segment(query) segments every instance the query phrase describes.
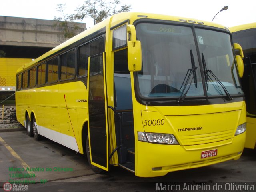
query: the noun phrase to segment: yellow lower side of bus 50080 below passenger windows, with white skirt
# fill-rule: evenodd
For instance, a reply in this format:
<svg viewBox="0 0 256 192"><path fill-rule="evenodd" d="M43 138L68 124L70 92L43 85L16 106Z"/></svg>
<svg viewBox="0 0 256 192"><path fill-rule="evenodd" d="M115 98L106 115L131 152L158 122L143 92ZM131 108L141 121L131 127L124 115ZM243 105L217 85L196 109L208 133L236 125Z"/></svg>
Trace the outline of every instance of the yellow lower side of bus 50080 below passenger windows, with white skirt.
<svg viewBox="0 0 256 192"><path fill-rule="evenodd" d="M74 144L71 148L75 150L76 145L76 150L83 154L82 127L86 122L88 105L87 102L79 100L86 100L86 91L81 81L18 91L17 120L25 126L26 111L30 116L33 112L37 124L48 130L39 134L67 147L70 146L65 144L62 138L64 135L73 137Z"/></svg>

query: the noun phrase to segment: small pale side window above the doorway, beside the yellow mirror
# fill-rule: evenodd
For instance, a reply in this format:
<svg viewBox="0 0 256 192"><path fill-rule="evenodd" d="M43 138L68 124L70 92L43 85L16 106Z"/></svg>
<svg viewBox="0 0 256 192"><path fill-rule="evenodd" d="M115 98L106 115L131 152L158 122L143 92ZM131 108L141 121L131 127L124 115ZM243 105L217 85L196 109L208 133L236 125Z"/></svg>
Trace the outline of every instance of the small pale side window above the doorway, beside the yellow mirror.
<svg viewBox="0 0 256 192"><path fill-rule="evenodd" d="M126 25L113 30L113 50L127 46Z"/></svg>

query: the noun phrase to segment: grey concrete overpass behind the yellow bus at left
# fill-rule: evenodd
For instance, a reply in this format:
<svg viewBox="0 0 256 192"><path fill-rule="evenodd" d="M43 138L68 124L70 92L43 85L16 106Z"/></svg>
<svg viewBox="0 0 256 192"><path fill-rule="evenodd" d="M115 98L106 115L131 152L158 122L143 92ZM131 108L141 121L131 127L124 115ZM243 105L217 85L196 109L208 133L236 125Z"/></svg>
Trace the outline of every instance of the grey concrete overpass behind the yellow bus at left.
<svg viewBox="0 0 256 192"><path fill-rule="evenodd" d="M86 30L85 23L75 24L79 27L75 34ZM72 23L68 26L74 29ZM57 21L0 16L0 50L5 57L37 58L66 40Z"/></svg>

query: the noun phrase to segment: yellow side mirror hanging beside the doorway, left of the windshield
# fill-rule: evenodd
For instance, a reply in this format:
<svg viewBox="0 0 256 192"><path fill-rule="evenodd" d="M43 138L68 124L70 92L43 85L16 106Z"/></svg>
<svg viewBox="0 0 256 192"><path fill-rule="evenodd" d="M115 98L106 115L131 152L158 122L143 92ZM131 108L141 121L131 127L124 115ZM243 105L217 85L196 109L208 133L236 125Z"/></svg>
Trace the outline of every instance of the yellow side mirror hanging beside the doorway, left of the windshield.
<svg viewBox="0 0 256 192"><path fill-rule="evenodd" d="M128 69L129 71L141 71L141 44L140 41L136 40L134 25L127 26L127 33L130 34L130 40L128 41Z"/></svg>

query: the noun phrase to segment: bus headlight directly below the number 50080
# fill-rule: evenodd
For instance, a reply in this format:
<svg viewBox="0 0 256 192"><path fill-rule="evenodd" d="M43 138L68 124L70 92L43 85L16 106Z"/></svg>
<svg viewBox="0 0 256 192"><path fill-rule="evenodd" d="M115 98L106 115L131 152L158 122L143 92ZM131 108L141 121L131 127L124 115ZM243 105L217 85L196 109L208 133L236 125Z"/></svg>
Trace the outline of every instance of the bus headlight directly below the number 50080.
<svg viewBox="0 0 256 192"><path fill-rule="evenodd" d="M179 144L172 134L138 132L138 140L159 144Z"/></svg>

